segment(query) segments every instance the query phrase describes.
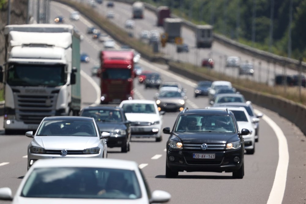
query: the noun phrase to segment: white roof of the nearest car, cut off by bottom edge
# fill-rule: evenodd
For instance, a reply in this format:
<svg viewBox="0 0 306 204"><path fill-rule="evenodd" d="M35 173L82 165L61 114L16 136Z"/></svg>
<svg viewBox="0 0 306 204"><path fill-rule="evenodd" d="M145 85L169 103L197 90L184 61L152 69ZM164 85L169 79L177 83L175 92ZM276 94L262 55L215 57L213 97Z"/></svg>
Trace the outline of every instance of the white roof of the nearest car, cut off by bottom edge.
<svg viewBox="0 0 306 204"><path fill-rule="evenodd" d="M136 170L138 164L135 161L102 158L58 158L39 159L33 164L35 168L50 167L98 167Z"/></svg>

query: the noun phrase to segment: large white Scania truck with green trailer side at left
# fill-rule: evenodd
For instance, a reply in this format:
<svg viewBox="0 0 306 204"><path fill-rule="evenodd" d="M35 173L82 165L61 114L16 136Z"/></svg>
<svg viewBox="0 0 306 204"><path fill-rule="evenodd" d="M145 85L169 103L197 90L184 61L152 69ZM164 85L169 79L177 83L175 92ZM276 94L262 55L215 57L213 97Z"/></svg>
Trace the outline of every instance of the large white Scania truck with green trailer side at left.
<svg viewBox="0 0 306 204"><path fill-rule="evenodd" d="M78 115L80 37L72 25L8 25L4 129L36 130L46 116Z"/></svg>

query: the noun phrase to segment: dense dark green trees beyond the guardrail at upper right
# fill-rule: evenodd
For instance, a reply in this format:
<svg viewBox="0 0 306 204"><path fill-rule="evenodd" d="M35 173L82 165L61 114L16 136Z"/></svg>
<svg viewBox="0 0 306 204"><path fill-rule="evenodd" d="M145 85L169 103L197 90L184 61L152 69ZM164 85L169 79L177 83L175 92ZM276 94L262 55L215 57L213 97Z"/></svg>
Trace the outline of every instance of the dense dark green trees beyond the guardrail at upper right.
<svg viewBox="0 0 306 204"><path fill-rule="evenodd" d="M144 0L170 6L172 13L196 24L214 25L215 32L241 43L269 51L272 0ZM292 58L306 57L306 0L292 0ZM272 52L288 55L290 0L274 0ZM255 42L252 42L253 8Z"/></svg>

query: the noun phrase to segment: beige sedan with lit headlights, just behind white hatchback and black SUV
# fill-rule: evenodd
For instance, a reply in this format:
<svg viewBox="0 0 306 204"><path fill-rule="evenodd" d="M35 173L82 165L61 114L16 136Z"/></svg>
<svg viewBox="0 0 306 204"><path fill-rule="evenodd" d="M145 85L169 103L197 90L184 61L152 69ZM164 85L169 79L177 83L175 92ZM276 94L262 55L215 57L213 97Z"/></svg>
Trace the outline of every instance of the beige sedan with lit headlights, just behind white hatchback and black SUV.
<svg viewBox="0 0 306 204"><path fill-rule="evenodd" d="M159 111L182 111L187 97L178 88L169 87L156 93L154 99Z"/></svg>

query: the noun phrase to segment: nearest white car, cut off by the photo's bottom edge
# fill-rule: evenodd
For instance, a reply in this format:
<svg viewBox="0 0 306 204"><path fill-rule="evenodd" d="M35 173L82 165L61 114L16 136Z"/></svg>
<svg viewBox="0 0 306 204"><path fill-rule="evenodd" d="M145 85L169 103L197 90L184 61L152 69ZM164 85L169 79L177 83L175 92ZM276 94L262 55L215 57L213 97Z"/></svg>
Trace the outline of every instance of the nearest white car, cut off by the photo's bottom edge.
<svg viewBox="0 0 306 204"><path fill-rule="evenodd" d="M0 188L0 200L13 204L161 203L171 195L148 189L134 161L69 158L39 160L22 179L12 197L10 188Z"/></svg>

